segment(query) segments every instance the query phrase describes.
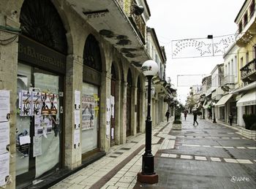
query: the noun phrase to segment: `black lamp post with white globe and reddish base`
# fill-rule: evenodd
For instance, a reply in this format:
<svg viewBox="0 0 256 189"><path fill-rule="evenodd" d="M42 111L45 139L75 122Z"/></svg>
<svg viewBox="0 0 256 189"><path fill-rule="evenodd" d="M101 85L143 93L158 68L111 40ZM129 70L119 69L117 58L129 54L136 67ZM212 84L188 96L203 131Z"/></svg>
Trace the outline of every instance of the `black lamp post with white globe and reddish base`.
<svg viewBox="0 0 256 189"><path fill-rule="evenodd" d="M151 153L151 131L152 121L150 115L151 109L151 80L158 72L158 65L155 61L148 60L143 63L143 74L148 78L148 114L146 119L146 144L145 153L142 157L142 171L138 173L139 182L154 184L158 182L158 175L154 172L154 155Z"/></svg>

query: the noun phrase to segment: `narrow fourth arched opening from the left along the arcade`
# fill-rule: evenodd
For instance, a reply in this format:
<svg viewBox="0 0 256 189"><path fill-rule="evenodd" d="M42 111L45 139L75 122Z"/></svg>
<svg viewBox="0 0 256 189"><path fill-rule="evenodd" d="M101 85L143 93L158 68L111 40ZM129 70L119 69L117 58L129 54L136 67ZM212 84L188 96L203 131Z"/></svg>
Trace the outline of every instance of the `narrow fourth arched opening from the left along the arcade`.
<svg viewBox="0 0 256 189"><path fill-rule="evenodd" d="M127 74L127 136L130 136L132 134L131 107L132 107L132 72L129 69Z"/></svg>

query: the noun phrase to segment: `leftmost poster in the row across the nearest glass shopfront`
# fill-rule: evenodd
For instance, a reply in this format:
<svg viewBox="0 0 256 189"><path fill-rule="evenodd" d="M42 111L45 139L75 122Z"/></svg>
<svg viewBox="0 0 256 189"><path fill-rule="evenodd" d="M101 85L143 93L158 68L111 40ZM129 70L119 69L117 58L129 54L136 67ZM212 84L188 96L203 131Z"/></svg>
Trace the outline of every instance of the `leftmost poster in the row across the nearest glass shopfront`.
<svg viewBox="0 0 256 189"><path fill-rule="evenodd" d="M32 115L32 94L29 90L21 90L20 116Z"/></svg>

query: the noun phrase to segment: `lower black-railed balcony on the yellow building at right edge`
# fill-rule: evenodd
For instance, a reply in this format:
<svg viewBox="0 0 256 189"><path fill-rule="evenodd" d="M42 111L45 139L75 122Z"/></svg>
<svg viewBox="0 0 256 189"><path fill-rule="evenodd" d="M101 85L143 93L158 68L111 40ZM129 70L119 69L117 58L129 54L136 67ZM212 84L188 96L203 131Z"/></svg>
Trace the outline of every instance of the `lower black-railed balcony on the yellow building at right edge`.
<svg viewBox="0 0 256 189"><path fill-rule="evenodd" d="M256 81L256 58L240 69L243 82Z"/></svg>

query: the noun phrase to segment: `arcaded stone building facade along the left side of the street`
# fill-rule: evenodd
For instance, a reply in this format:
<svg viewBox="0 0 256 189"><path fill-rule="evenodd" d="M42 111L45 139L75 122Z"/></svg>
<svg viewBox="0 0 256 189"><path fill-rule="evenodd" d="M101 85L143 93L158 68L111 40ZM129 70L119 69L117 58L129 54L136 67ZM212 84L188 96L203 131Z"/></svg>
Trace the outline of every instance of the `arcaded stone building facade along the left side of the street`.
<svg viewBox="0 0 256 189"><path fill-rule="evenodd" d="M0 7L6 188L43 186L48 175L86 166L145 131L146 0L4 0Z"/></svg>

